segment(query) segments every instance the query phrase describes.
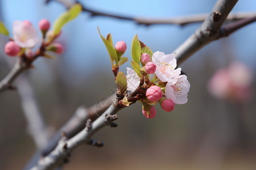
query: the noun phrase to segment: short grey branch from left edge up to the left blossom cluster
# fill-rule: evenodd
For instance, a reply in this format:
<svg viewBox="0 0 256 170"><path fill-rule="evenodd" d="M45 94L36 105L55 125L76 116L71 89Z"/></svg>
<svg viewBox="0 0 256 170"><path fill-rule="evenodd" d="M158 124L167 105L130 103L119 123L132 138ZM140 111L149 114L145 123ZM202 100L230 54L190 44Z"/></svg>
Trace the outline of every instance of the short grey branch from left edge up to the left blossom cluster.
<svg viewBox="0 0 256 170"><path fill-rule="evenodd" d="M3 91L15 89L13 86L11 86L11 83L13 83L14 79L26 69L28 69L26 63L22 62L20 57L17 57L13 69L0 82L0 94Z"/></svg>

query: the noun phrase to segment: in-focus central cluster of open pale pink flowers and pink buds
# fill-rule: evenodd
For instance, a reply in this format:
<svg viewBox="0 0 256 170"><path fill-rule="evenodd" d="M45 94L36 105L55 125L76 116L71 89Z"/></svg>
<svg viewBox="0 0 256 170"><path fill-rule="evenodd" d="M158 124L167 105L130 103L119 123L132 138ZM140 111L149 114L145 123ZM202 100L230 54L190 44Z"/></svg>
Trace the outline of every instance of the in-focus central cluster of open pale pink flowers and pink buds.
<svg viewBox="0 0 256 170"><path fill-rule="evenodd" d="M141 55L141 73L150 79L151 86L142 99L142 113L147 118L154 118L156 110L154 104L158 101L164 111L170 112L175 104L185 104L188 101L190 84L186 75L180 75L174 54L155 52L152 59L147 53ZM140 84L140 77L131 68L127 67L127 90L135 91Z"/></svg>

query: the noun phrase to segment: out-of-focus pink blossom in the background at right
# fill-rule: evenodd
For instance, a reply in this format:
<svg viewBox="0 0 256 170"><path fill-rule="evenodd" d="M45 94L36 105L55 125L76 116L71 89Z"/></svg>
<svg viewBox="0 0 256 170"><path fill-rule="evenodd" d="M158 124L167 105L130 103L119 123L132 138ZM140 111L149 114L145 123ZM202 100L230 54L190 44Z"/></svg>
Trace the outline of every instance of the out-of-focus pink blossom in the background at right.
<svg viewBox="0 0 256 170"><path fill-rule="evenodd" d="M208 83L208 91L218 99L247 101L251 98L253 73L241 62L233 62L226 69L217 70Z"/></svg>

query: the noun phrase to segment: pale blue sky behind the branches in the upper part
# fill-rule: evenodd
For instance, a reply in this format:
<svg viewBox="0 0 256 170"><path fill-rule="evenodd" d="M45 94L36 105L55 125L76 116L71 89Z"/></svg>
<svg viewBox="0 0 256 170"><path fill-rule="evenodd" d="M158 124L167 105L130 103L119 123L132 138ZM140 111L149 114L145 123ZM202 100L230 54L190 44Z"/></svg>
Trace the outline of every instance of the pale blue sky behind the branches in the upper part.
<svg viewBox="0 0 256 170"><path fill-rule="evenodd" d="M81 1L86 7L94 10L110 12L126 16L167 17L190 14L207 13L213 7L215 1L204 0L175 0L175 1ZM51 23L65 11L65 7L57 2L44 5L43 0L1 0L1 17L6 27L12 29L14 20L30 20L35 27L42 18L47 18ZM256 11L256 1L238 1L233 11ZM63 28L60 41L65 46L63 58L69 63L69 67L75 72L92 70L94 63L101 67L110 67L108 52L98 35L97 26L102 35L112 33L113 42L126 41L127 52L124 56L130 56L130 45L134 35L138 33L139 39L154 51L160 50L171 53L200 24L191 24L185 27L177 25L137 25L134 22L106 18L102 16L90 17L88 13L82 13L79 17L68 23ZM233 53L236 57L254 66L256 63L256 24L253 23L234 33L229 39L232 41ZM99 62L101 61L101 62ZM109 62L109 63L108 63ZM108 63L106 65L106 63ZM127 63L125 65L129 66Z"/></svg>

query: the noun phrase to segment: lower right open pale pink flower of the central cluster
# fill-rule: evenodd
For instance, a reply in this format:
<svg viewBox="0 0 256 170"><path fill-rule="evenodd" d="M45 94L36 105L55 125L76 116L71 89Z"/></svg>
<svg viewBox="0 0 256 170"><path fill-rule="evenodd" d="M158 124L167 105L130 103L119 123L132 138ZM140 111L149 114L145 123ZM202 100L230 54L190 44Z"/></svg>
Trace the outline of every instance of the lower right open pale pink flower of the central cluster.
<svg viewBox="0 0 256 170"><path fill-rule="evenodd" d="M166 84L165 95L167 99L171 99L176 104L185 104L188 101L190 84L185 75L178 75L176 79L177 82L168 82Z"/></svg>

